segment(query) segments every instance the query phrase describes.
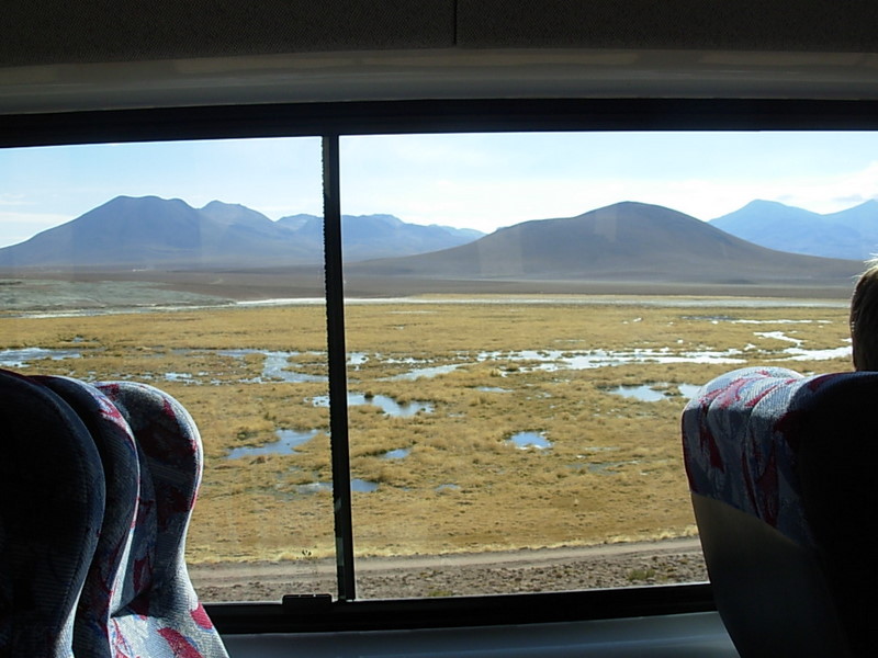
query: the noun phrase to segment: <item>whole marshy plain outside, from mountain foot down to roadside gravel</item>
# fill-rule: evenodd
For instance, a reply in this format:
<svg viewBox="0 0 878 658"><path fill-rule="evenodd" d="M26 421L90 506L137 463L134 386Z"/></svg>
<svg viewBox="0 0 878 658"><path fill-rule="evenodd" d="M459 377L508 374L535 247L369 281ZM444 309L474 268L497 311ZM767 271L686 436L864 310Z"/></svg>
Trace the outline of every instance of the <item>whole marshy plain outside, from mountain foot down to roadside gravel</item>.
<svg viewBox="0 0 878 658"><path fill-rule="evenodd" d="M204 599L331 593L324 308L243 281L3 280L0 366L144 381L187 406ZM746 365L851 370L849 292L525 288L402 286L346 309L359 595L703 580L688 397Z"/></svg>

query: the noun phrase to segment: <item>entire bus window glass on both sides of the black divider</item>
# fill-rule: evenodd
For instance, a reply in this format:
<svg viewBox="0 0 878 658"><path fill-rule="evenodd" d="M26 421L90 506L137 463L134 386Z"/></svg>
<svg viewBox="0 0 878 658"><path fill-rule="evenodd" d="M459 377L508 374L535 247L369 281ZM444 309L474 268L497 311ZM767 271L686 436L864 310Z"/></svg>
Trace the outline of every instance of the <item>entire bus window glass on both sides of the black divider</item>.
<svg viewBox="0 0 878 658"><path fill-rule="evenodd" d="M342 137L357 595L705 579L679 413L851 368L875 146ZM0 367L183 402L206 601L337 591L319 175L317 138L0 151Z"/></svg>

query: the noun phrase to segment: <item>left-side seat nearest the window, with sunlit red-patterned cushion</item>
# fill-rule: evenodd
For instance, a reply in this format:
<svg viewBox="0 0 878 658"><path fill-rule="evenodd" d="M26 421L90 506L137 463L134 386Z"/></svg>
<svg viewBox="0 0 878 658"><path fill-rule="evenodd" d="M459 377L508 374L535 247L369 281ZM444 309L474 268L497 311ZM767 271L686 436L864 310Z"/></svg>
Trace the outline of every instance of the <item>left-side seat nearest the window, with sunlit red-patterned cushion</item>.
<svg viewBox="0 0 878 658"><path fill-rule="evenodd" d="M140 455L140 508L124 575L126 611L117 633L137 655L226 657L199 603L184 561L185 533L201 484L201 436L171 396L130 382L101 383Z"/></svg>

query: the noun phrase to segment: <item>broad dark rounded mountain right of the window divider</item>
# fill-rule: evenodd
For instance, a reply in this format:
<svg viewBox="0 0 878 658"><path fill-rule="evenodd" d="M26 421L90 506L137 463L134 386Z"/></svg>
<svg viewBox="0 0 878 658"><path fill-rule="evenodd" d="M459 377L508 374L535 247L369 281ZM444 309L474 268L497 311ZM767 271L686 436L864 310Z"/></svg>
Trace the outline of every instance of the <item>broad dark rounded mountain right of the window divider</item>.
<svg viewBox="0 0 878 658"><path fill-rule="evenodd" d="M619 203L525 222L443 251L357 263L361 275L495 280L849 284L856 261L774 251L661 206Z"/></svg>

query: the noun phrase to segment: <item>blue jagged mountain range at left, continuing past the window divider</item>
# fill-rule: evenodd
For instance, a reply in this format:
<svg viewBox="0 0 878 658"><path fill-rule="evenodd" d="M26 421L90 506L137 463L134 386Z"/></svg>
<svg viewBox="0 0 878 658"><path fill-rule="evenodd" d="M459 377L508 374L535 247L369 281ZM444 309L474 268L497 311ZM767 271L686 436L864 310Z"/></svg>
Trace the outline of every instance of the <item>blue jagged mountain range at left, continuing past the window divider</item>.
<svg viewBox="0 0 878 658"><path fill-rule="evenodd" d="M431 251L472 239L465 232L406 224L391 215L342 219L342 246L349 261ZM179 198L157 196L119 196L67 224L0 249L4 268L200 269L305 264L322 259L318 217L296 215L272 222L243 205L213 201L196 209Z"/></svg>

